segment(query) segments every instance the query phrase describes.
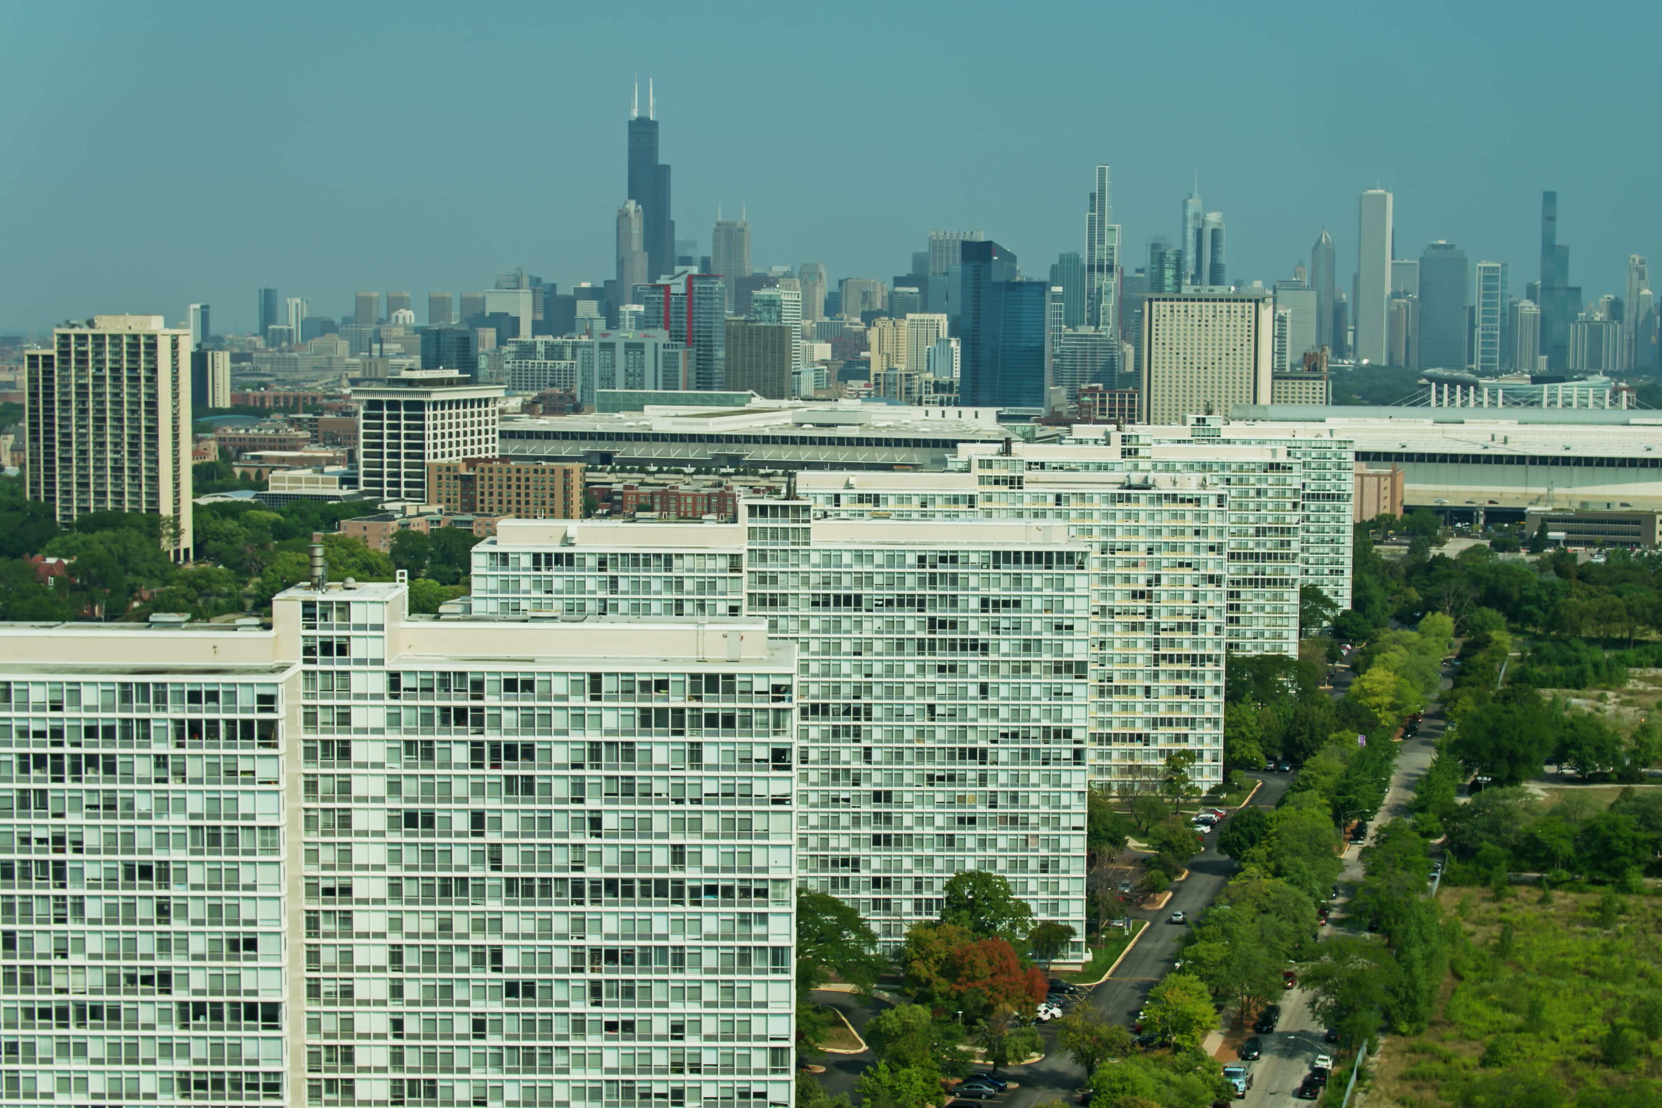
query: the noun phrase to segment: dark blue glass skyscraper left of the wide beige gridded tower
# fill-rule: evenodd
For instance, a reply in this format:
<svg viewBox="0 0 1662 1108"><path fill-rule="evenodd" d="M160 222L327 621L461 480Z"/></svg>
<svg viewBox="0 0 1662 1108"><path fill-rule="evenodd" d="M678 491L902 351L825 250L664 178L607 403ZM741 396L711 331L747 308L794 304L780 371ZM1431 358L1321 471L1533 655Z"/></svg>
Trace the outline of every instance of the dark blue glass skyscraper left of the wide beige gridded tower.
<svg viewBox="0 0 1662 1108"><path fill-rule="evenodd" d="M1044 281L1020 281L1015 254L997 243L959 241L957 332L959 404L1029 407L1045 404Z"/></svg>

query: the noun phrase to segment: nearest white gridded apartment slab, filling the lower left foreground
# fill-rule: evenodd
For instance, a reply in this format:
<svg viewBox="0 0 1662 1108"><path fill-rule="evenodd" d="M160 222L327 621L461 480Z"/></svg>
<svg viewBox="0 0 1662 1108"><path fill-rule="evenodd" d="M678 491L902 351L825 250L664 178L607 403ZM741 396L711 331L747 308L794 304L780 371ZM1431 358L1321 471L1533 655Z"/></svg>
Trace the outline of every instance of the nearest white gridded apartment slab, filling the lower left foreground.
<svg viewBox="0 0 1662 1108"><path fill-rule="evenodd" d="M0 625L12 1098L789 1105L791 645L406 611Z"/></svg>

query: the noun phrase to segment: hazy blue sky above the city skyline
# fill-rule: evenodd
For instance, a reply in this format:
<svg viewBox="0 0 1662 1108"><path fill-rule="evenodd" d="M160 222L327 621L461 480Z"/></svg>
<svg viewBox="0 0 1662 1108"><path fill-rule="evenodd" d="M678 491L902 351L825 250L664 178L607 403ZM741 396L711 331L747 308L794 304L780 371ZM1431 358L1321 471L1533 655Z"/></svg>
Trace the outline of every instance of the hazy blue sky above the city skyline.
<svg viewBox="0 0 1662 1108"><path fill-rule="evenodd" d="M0 329L254 289L470 291L612 276L630 83L653 75L680 238L748 204L753 262L889 279L931 228L1042 276L1114 166L1127 262L1195 174L1228 271L1291 276L1356 194L1398 254L1449 239L1537 276L1542 188L1571 276L1662 266L1655 5L0 3Z"/></svg>

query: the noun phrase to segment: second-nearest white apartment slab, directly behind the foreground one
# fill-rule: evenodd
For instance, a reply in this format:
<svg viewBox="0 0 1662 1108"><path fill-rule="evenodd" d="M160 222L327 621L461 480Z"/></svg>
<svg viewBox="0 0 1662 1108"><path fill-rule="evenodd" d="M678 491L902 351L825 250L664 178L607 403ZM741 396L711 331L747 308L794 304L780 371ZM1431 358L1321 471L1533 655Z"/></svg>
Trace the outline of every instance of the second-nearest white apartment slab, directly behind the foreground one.
<svg viewBox="0 0 1662 1108"><path fill-rule="evenodd" d="M801 882L851 900L886 949L939 917L962 869L1084 935L1084 545L1020 520L813 518L806 500L741 513L504 522L474 548L472 608L766 616L798 648Z"/></svg>

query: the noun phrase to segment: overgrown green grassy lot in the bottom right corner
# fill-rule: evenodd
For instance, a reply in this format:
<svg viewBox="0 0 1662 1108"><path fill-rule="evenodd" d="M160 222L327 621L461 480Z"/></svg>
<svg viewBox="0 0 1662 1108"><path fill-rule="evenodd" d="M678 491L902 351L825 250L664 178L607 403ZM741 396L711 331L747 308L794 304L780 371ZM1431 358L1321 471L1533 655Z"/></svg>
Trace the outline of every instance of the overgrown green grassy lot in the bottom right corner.
<svg viewBox="0 0 1662 1108"><path fill-rule="evenodd" d="M1662 1076L1655 897L1516 894L1441 894L1464 940L1426 1033L1386 1040L1369 1108L1512 1105L1522 1088L1546 1096L1532 1108L1604 1105Z"/></svg>

